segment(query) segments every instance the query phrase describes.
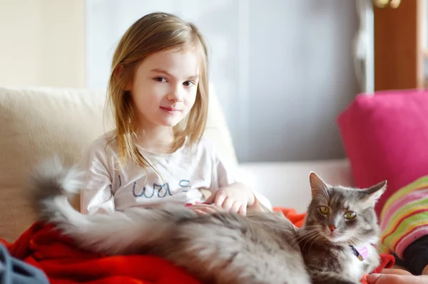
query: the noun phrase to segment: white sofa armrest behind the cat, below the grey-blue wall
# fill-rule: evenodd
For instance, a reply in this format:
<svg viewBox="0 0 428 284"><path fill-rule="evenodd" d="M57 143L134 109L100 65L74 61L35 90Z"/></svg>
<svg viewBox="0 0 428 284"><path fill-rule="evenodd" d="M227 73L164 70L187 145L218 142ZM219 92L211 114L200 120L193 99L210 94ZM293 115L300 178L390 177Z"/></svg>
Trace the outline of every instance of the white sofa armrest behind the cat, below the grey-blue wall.
<svg viewBox="0 0 428 284"><path fill-rule="evenodd" d="M268 208L281 206L305 212L311 199L310 172L317 173L327 184L353 184L347 159L243 163L238 174Z"/></svg>

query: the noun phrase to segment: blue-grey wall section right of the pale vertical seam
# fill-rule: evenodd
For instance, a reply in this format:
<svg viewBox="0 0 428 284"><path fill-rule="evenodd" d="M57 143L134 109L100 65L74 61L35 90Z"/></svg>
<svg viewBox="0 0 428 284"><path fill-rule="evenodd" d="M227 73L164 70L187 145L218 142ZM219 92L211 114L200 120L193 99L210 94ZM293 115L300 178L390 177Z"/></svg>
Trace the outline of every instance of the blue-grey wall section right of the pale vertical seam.
<svg viewBox="0 0 428 284"><path fill-rule="evenodd" d="M335 119L358 92L353 2L251 2L248 159L345 156Z"/></svg>

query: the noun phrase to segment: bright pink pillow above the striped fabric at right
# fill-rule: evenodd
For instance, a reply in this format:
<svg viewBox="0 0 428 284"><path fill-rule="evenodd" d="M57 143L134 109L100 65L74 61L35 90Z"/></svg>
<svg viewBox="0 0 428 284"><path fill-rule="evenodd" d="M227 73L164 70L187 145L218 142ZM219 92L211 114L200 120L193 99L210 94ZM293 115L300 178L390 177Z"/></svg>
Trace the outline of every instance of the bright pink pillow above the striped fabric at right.
<svg viewBox="0 0 428 284"><path fill-rule="evenodd" d="M427 90L357 95L337 122L355 185L388 181L378 215L397 189L428 174Z"/></svg>

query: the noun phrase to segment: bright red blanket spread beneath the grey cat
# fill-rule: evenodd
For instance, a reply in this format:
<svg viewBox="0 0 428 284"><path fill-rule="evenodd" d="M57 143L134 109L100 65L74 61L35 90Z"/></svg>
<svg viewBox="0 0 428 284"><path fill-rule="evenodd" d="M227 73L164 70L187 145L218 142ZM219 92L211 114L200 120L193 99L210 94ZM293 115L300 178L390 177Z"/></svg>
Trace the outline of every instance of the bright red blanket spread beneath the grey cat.
<svg viewBox="0 0 428 284"><path fill-rule="evenodd" d="M296 226L302 226L305 214L292 209L275 210L282 211ZM15 243L2 242L12 256L44 270L52 284L199 283L183 269L156 256L103 256L81 251L71 239L43 223L34 223ZM382 265L376 272L393 264L392 256L382 255Z"/></svg>

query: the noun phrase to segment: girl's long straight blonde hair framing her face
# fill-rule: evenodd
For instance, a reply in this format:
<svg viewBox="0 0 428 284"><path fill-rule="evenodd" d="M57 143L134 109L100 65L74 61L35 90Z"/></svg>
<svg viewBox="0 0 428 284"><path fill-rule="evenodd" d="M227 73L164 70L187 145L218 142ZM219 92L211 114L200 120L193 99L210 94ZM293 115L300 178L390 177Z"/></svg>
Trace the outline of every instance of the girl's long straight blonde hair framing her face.
<svg viewBox="0 0 428 284"><path fill-rule="evenodd" d="M199 142L205 130L208 114L208 51L203 36L192 23L166 13L153 13L138 19L118 43L111 65L108 83L108 105L110 105L116 124L118 154L123 165L131 160L147 169L153 167L143 157L134 141L134 107L126 85L133 80L136 67L141 61L157 51L175 49L179 51L200 51L200 74L195 104L187 117L173 127L175 152L188 137L190 146ZM116 72L121 67L121 74ZM156 169L155 169L156 170ZM157 172L157 171L156 171Z"/></svg>

